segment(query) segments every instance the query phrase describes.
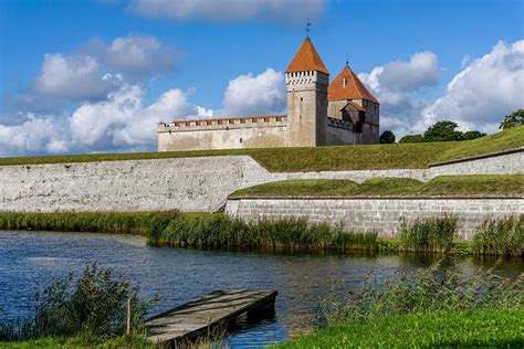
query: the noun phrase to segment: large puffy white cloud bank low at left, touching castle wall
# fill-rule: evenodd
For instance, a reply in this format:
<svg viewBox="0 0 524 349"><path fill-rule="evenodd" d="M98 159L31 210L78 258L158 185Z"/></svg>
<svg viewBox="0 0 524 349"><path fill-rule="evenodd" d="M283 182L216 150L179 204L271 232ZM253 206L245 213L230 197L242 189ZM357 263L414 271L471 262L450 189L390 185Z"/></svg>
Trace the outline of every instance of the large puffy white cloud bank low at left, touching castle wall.
<svg viewBox="0 0 524 349"><path fill-rule="evenodd" d="M125 85L106 101L84 103L71 116L30 114L23 124L0 125L0 156L155 149L158 121L199 113L178 88L147 106L144 97L139 85Z"/></svg>

